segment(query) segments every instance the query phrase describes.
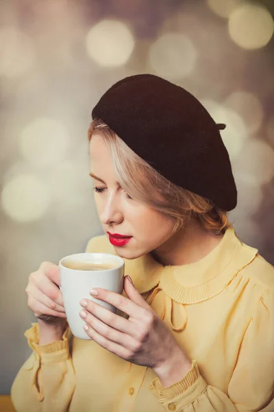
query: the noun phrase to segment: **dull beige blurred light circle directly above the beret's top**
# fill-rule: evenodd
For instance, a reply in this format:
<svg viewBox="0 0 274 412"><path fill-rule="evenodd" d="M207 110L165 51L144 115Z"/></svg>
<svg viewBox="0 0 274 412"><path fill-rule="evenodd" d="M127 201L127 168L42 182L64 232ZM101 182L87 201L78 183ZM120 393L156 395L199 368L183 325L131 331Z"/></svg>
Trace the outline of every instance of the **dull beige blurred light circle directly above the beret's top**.
<svg viewBox="0 0 274 412"><path fill-rule="evenodd" d="M149 63L159 76L182 79L195 67L197 52L190 39L184 34L166 33L152 43Z"/></svg>

